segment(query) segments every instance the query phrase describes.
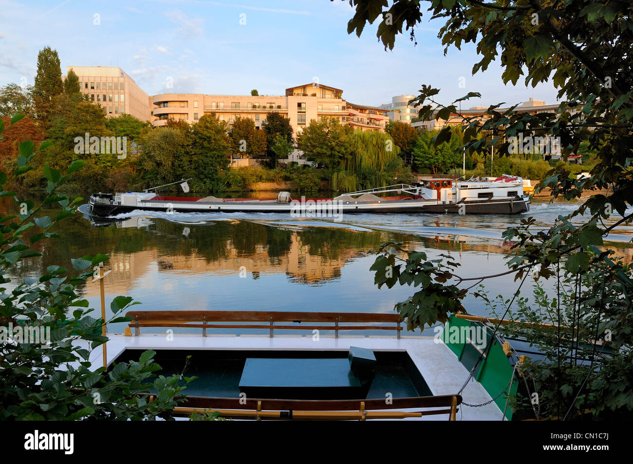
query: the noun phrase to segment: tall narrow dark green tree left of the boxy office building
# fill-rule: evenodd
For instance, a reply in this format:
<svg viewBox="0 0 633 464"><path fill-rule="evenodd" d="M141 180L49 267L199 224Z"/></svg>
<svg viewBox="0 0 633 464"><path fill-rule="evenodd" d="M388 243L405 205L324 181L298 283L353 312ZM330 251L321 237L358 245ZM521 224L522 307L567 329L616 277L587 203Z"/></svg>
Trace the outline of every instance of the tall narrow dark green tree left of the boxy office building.
<svg viewBox="0 0 633 464"><path fill-rule="evenodd" d="M51 120L53 99L64 91L61 82L60 57L56 50L44 47L37 54L37 75L33 86L35 116L45 128Z"/></svg>

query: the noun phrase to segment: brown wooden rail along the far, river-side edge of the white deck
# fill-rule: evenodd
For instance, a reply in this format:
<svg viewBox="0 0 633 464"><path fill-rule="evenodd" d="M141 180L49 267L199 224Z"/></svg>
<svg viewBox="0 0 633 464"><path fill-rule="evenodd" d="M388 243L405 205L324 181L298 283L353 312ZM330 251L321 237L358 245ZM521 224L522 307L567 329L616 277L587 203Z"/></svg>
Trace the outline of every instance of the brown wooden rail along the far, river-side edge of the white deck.
<svg viewBox="0 0 633 464"><path fill-rule="evenodd" d="M335 338L339 338L339 330L389 330L396 331L400 338L400 331L403 330L402 319L396 313L160 310L128 311L126 315L132 317L129 326L134 329L135 336L141 333L141 327L194 327L202 329L203 336L206 336L207 329L268 329L271 338L275 335L275 329L333 330ZM303 325L306 322L308 325ZM377 323L392 325L376 325Z"/></svg>

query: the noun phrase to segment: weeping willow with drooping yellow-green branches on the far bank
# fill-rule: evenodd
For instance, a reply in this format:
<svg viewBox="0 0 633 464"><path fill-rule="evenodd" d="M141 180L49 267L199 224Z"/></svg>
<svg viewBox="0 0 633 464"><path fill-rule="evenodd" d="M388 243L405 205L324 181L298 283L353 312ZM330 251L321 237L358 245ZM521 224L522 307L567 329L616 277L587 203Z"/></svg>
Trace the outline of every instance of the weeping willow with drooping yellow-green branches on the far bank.
<svg viewBox="0 0 633 464"><path fill-rule="evenodd" d="M400 149L389 135L379 131L356 130L348 138L349 156L332 176L334 190L351 192L361 188L381 187L391 181L398 167Z"/></svg>

